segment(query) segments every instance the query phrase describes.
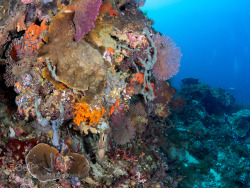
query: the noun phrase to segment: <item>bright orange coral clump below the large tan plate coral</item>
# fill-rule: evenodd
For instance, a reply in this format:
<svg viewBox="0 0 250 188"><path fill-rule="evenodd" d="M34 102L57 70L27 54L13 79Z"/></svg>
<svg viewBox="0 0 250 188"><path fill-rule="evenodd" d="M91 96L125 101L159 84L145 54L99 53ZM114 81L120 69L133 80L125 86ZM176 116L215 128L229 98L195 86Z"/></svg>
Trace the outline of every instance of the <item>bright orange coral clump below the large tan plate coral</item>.
<svg viewBox="0 0 250 188"><path fill-rule="evenodd" d="M105 109L93 110L86 103L76 103L73 107L74 123L79 125L81 122L87 122L89 125L98 123L103 116Z"/></svg>

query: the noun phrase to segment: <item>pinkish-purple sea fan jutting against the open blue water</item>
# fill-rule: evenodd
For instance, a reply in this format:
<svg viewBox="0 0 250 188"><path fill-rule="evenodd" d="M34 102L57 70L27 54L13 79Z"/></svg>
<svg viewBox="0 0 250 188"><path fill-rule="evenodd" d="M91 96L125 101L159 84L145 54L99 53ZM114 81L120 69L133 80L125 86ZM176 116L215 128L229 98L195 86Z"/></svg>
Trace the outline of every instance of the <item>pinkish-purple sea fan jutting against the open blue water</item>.
<svg viewBox="0 0 250 188"><path fill-rule="evenodd" d="M175 42L168 36L157 33L154 37L157 47L157 61L153 74L159 80L168 80L179 72L181 52Z"/></svg>

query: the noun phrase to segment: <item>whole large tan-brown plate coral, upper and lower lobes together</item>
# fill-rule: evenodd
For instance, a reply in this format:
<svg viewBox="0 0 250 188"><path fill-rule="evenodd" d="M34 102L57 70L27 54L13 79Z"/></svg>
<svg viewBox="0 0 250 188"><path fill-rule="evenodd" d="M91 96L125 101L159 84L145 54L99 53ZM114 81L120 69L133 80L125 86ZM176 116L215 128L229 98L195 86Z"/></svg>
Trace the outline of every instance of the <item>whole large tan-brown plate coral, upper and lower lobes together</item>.
<svg viewBox="0 0 250 188"><path fill-rule="evenodd" d="M86 41L73 40L74 32L73 13L54 16L39 55L48 58L56 68L58 81L70 88L96 93L104 85L106 66L98 50Z"/></svg>

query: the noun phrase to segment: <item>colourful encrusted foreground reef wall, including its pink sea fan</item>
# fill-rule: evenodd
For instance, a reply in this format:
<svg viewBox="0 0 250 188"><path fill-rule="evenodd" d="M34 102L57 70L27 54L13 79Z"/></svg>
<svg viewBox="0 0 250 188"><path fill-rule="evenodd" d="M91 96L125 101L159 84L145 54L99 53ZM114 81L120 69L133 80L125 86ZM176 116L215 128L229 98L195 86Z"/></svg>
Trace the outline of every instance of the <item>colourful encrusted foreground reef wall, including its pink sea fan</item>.
<svg viewBox="0 0 250 188"><path fill-rule="evenodd" d="M0 2L0 187L175 187L146 138L181 53L145 0Z"/></svg>

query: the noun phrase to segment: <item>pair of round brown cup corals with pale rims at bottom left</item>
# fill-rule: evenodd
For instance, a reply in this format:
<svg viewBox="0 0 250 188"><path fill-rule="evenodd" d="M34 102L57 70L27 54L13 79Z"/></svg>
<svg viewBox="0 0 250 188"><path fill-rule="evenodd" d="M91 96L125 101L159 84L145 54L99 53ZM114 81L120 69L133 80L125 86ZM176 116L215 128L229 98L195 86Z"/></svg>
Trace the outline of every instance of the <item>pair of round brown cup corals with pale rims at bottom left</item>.
<svg viewBox="0 0 250 188"><path fill-rule="evenodd" d="M57 149L44 143L38 144L29 152L26 163L30 174L39 181L58 179L60 173L82 179L89 173L85 156L77 153L62 155Z"/></svg>

